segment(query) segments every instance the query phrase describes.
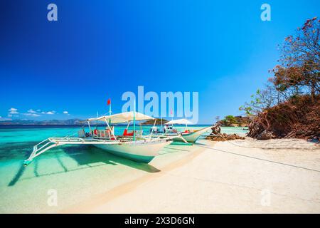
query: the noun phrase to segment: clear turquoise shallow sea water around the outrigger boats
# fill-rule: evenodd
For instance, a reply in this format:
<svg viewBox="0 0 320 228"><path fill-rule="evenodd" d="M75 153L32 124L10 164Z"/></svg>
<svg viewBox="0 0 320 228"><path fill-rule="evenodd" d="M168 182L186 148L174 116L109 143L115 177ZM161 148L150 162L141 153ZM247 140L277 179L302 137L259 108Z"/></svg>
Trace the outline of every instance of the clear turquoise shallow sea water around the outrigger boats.
<svg viewBox="0 0 320 228"><path fill-rule="evenodd" d="M192 128L204 128L196 125ZM122 134L125 126L117 126ZM138 127L139 129L140 127ZM150 126L143 126L144 134ZM111 155L90 145L54 147L23 167L33 145L49 137L77 133L80 127L0 126L0 212L59 212L132 180L144 172L159 172L159 162L178 159L192 146L169 145L149 165ZM182 130L182 129L181 129ZM242 128L223 128L224 133L244 134ZM48 190L57 190L58 205L48 206Z"/></svg>

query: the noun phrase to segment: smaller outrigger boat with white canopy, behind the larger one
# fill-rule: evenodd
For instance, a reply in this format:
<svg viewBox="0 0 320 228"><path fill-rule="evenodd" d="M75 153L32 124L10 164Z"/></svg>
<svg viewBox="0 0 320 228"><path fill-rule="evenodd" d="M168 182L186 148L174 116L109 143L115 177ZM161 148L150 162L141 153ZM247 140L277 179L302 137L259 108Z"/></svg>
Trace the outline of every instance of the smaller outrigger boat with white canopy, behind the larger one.
<svg viewBox="0 0 320 228"><path fill-rule="evenodd" d="M174 124L175 125L186 125L186 129L183 132L178 132L178 130L176 130L176 128L174 128ZM173 136L178 136L181 135L181 137L176 137L173 140L174 141L187 141L187 142L191 142L194 143L196 142L196 140L198 140L198 138L200 138L201 135L203 135L204 133L206 133L208 130L211 129L211 127L206 127L206 128L201 128L199 130L189 130L188 129L188 125L191 125L193 123L191 123L189 120L186 119L179 119L179 120L171 120L167 123L165 123L164 127L160 130L158 130L158 128L154 125L151 128L151 133L155 133L155 135L162 135L162 137L173 137Z"/></svg>

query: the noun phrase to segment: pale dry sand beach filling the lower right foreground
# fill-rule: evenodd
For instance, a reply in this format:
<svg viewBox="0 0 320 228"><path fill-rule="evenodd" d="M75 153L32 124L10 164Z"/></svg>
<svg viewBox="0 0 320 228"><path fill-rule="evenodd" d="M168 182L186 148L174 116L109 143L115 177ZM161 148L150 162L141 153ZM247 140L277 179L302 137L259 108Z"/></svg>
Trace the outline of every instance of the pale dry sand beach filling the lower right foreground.
<svg viewBox="0 0 320 228"><path fill-rule="evenodd" d="M304 140L201 141L173 162L60 212L320 213L320 149Z"/></svg>

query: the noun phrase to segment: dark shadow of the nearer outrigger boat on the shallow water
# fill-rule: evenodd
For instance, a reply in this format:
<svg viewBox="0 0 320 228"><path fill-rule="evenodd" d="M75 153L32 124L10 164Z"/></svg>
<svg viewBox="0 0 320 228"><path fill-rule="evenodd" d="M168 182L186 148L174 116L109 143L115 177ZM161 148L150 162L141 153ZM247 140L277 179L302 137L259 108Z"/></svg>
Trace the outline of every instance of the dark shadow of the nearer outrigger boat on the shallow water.
<svg viewBox="0 0 320 228"><path fill-rule="evenodd" d="M104 165L125 165L127 167L132 167L134 169L142 170L144 172L161 171L152 165L134 162L133 160L112 155L105 150L100 150L99 148L93 147L91 145L82 145L80 147L61 146L57 149L58 150L53 150L52 152L50 152L50 157L46 157L45 159L55 160L57 162L57 167L60 167L59 171L46 172L44 174L40 174L38 172L38 166L39 163L41 163L41 159L39 159L40 157L33 160L31 165L28 165L28 167L23 167L23 161L21 161L21 167L18 169L18 172L16 172L16 175L14 175L12 180L9 182L8 186L16 185L16 182L18 182L21 179L26 169L30 168L33 169L34 176L23 178L23 180L32 179L35 177L58 175L65 172L90 169L95 167L101 167ZM63 153L61 153L61 150L63 150ZM74 165L72 165L73 167L70 167L70 165L67 165L65 162L63 162L63 157L65 156L71 157L73 160L75 160L78 163L78 167L74 167Z"/></svg>

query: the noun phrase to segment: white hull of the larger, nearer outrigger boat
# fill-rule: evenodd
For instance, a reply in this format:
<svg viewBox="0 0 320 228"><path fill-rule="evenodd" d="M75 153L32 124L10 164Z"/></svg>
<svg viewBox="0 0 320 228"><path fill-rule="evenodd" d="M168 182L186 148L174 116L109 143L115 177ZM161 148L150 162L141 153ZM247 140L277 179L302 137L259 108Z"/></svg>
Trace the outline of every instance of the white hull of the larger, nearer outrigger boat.
<svg viewBox="0 0 320 228"><path fill-rule="evenodd" d="M149 163L158 155L158 152L169 145L170 142L166 140L151 142L124 142L119 144L98 144L94 145L102 150L117 155L119 157L125 157L135 162Z"/></svg>

